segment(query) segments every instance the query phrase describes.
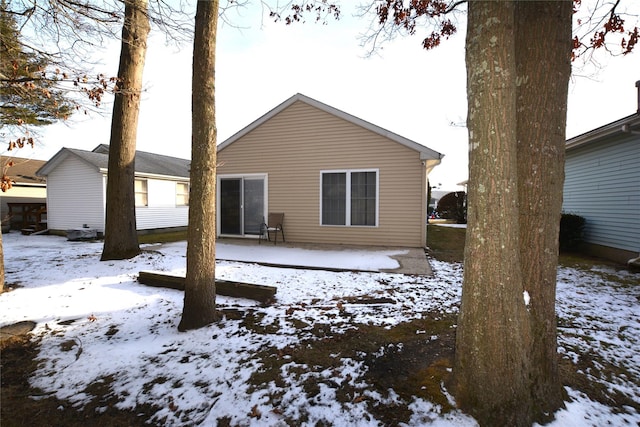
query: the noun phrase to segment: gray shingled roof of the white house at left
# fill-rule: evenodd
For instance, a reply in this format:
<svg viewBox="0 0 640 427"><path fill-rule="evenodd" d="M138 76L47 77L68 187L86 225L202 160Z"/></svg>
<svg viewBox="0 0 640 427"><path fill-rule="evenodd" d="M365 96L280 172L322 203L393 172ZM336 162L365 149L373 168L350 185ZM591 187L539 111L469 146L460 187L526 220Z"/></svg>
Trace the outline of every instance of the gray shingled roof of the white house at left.
<svg viewBox="0 0 640 427"><path fill-rule="evenodd" d="M105 144L98 145L92 151L62 148L44 166L38 169L36 173L39 176L48 175L60 162L69 156L75 156L95 167L97 171L106 173L109 165L108 153L109 146ZM136 151L135 165L136 175L188 179L191 160L147 153L145 151Z"/></svg>

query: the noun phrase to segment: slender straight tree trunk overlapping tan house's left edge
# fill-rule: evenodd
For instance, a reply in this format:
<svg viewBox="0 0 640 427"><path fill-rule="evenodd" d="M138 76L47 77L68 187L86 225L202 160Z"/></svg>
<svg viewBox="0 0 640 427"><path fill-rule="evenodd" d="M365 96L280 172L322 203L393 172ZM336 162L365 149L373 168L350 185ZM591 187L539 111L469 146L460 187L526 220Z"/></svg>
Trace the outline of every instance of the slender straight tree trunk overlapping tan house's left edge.
<svg viewBox="0 0 640 427"><path fill-rule="evenodd" d="M198 1L193 41L191 190L184 308L178 330L216 320L215 61L218 0Z"/></svg>

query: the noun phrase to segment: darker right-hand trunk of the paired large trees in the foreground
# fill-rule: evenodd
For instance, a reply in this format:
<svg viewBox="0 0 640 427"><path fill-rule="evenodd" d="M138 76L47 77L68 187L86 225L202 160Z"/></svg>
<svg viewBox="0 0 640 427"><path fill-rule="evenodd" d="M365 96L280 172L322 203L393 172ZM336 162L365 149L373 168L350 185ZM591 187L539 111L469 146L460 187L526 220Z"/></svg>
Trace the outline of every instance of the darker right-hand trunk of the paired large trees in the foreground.
<svg viewBox="0 0 640 427"><path fill-rule="evenodd" d="M531 393L540 422L563 406L555 299L571 19L571 1L516 3L520 261L531 298Z"/></svg>

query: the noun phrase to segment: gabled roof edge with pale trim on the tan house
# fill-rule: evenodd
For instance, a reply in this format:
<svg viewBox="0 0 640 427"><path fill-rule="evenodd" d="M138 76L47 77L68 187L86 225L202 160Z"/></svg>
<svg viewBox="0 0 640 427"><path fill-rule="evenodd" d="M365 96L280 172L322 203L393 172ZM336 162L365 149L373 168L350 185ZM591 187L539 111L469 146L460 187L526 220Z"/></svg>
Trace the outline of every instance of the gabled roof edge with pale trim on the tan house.
<svg viewBox="0 0 640 427"><path fill-rule="evenodd" d="M373 123L369 123L356 116L352 116L351 114L345 113L344 111L338 110L337 108L331 107L330 105L323 104L322 102L316 101L315 99L309 98L308 96L302 95L301 93L297 93L293 95L291 98L287 99L286 101L284 101L283 103L281 103L280 105L278 105L277 107L269 111L268 113L264 114L262 117L258 118L248 126L244 127L243 129L241 129L240 131L232 135L230 138L227 138L225 141L223 141L221 144L218 145L218 151L223 150L225 147L229 146L230 144L233 144L235 141L242 138L244 135L248 134L258 126L262 125L263 123L267 122L269 119L271 119L275 115L289 108L295 102L304 102L305 104L308 104L321 111L324 111L325 113L332 114L336 117L339 117L357 126L365 128L371 132L377 133L378 135L384 136L385 138L388 138L394 142L397 142L398 144L402 144L405 147L409 147L420 153L420 160L438 160L439 161L444 157L444 154L438 153L437 151L432 150L428 147L425 147L422 144L418 144L415 141L412 141L396 133L393 133L384 128L381 128L380 126L376 126Z"/></svg>

